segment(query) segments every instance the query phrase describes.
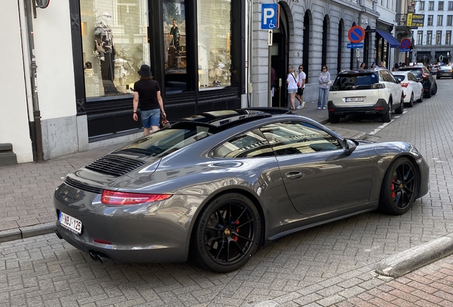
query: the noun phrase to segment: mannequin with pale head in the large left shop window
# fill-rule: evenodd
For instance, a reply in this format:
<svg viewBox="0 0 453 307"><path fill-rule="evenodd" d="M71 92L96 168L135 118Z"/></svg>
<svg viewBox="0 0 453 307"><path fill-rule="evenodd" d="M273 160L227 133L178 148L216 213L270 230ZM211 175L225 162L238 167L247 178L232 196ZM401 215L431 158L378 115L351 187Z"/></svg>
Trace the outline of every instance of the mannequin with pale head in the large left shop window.
<svg viewBox="0 0 453 307"><path fill-rule="evenodd" d="M105 95L118 93L113 84L115 78L115 45L113 45L112 29L108 26L111 18L112 16L108 12L104 12L95 28L95 51L100 60L100 72Z"/></svg>

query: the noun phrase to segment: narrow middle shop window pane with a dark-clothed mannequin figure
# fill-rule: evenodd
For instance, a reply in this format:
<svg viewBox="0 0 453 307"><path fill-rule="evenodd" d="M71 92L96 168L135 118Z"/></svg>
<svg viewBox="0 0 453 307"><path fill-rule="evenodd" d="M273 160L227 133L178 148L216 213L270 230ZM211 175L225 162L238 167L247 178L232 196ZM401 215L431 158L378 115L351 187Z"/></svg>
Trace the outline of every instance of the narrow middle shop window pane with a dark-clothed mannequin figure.
<svg viewBox="0 0 453 307"><path fill-rule="evenodd" d="M165 93L187 90L186 12L184 0L163 0Z"/></svg>

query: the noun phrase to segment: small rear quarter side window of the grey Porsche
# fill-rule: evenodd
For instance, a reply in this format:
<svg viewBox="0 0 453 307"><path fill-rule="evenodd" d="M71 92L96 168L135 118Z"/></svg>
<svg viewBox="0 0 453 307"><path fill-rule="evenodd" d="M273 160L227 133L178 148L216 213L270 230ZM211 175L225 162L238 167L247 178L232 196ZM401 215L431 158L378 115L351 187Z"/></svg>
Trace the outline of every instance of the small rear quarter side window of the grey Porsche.
<svg viewBox="0 0 453 307"><path fill-rule="evenodd" d="M215 158L256 158L275 155L261 131L254 129L217 146L212 151L212 156Z"/></svg>

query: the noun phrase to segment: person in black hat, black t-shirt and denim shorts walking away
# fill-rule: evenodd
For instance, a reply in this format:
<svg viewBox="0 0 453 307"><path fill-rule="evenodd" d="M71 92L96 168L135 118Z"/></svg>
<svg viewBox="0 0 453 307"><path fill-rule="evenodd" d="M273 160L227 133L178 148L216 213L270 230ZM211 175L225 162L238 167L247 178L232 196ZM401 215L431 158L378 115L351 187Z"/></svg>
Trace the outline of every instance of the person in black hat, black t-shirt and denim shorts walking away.
<svg viewBox="0 0 453 307"><path fill-rule="evenodd" d="M150 134L150 130L159 129L160 114L165 118L167 114L164 111L164 102L160 95L160 87L157 81L152 80L150 66L142 65L138 71L140 80L134 83L134 99L132 106L134 113L132 118L138 121L137 109L140 102L140 115L142 117L143 135Z"/></svg>

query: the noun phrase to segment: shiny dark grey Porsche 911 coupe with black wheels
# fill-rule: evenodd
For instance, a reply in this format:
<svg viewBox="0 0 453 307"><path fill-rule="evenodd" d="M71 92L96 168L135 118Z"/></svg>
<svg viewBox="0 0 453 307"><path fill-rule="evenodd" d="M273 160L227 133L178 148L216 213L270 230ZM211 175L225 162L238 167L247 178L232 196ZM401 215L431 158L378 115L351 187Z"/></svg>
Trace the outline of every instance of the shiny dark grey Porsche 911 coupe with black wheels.
<svg viewBox="0 0 453 307"><path fill-rule="evenodd" d="M274 113L274 114L272 114ZM206 112L68 174L56 234L95 260L244 266L266 240L428 191L411 144L344 139L275 109Z"/></svg>

